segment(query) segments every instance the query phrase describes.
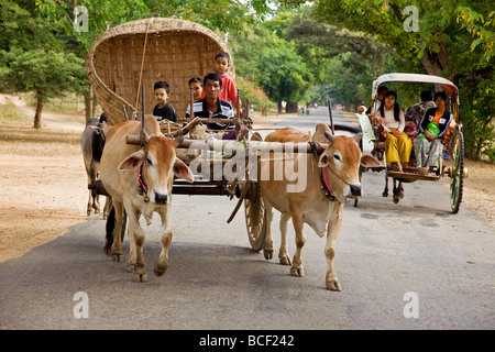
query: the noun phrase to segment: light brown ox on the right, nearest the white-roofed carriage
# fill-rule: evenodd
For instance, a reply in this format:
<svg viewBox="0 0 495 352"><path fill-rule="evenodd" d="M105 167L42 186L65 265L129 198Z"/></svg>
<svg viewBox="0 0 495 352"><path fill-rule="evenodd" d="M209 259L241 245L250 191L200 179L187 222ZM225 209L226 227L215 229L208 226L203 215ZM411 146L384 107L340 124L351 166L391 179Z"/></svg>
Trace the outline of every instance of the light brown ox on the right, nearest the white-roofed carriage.
<svg viewBox="0 0 495 352"><path fill-rule="evenodd" d="M287 252L287 226L290 218L296 232L296 253L293 258L290 275L304 276L301 250L306 239L302 233L304 223L308 223L315 232L323 237L327 234L324 254L327 256L328 270L326 275L327 288L341 290L340 282L333 268L333 257L336 255L336 241L342 223L343 205L349 197L361 196L361 180L359 174L360 163L365 167L380 165L380 162L366 154L361 154L356 141L362 138L359 133L352 136L332 135L326 124L318 124L312 141L318 143L329 143L324 152L316 157L311 154L295 154L294 161L284 161L293 164L294 170L298 170L298 177L306 178L306 188L300 193L287 191L287 186L294 184L283 177L282 180L274 180L272 177L276 167L284 167L280 158L274 157L267 163L261 163L261 175L271 174L268 180L260 182L261 195L266 208L266 238L264 243L264 255L267 260L273 256L273 241L271 234L271 222L273 208L280 211L280 249L278 257L282 264L290 265ZM308 142L309 136L298 130L286 128L268 134L266 142ZM305 166L306 157L306 170ZM270 167L270 170L267 169ZM285 169L287 167L285 166ZM301 170L302 169L302 170ZM327 196L329 190L324 186L322 177L331 189L334 198Z"/></svg>

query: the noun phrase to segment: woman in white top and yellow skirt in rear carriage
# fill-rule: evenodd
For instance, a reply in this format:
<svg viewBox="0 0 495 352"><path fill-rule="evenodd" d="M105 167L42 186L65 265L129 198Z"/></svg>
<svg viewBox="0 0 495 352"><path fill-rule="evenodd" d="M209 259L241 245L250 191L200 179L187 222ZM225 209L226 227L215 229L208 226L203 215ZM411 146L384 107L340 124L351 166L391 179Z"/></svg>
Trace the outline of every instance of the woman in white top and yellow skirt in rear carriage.
<svg viewBox="0 0 495 352"><path fill-rule="evenodd" d="M395 91L389 90L386 92L378 109L378 116L383 119L382 128L385 133L385 157L387 164L389 163L393 169L402 173L404 167L407 167L409 164L413 142L404 133L406 120L403 110L397 103L397 94Z"/></svg>

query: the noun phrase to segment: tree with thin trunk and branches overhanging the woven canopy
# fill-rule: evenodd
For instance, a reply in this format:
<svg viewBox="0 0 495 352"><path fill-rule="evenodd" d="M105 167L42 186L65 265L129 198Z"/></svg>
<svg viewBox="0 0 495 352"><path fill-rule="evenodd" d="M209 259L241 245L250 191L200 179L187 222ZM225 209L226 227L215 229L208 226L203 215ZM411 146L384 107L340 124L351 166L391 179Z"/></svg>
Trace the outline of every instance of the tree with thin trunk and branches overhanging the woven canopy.
<svg viewBox="0 0 495 352"><path fill-rule="evenodd" d="M53 32L65 43L65 51L86 61L92 42L108 26L151 16L177 16L200 23L211 30L240 31L244 25L261 21L271 10L265 1L229 0L32 0L36 15L47 25L56 24ZM88 30L75 31L74 10L81 6L88 10ZM249 14L249 15L246 15ZM92 116L95 101L87 78L84 92L86 118Z"/></svg>

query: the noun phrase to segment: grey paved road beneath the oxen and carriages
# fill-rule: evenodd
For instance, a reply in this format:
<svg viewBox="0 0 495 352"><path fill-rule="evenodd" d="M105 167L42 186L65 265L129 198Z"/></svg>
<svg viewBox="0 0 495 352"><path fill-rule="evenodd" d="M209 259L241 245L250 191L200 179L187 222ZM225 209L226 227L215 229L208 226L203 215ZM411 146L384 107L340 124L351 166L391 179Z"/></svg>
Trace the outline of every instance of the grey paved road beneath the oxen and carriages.
<svg viewBox="0 0 495 352"><path fill-rule="evenodd" d="M337 112L334 119L345 121ZM279 125L327 121L319 108ZM359 206L345 206L336 256L340 293L324 289L324 240L309 227L306 276L292 277L288 266L250 249L242 211L227 224L235 200L175 196L165 276L152 274L157 217L146 229L145 283L105 256L105 221L94 217L0 264L0 328L494 329L495 229L466 208L451 215L446 182L407 184L397 205L381 196L383 185L383 173L365 173ZM276 215L275 245L277 223Z"/></svg>

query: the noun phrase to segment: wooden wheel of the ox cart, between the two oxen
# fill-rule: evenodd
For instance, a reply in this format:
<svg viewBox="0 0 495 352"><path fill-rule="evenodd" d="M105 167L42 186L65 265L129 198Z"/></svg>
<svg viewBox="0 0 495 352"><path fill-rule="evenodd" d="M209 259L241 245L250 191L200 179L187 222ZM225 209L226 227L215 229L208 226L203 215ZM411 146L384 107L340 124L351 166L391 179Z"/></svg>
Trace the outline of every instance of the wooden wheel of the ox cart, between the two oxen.
<svg viewBox="0 0 495 352"><path fill-rule="evenodd" d="M251 248L258 252L263 248L266 235L265 206L261 197L260 183L250 182L249 187L244 198L245 227Z"/></svg>

